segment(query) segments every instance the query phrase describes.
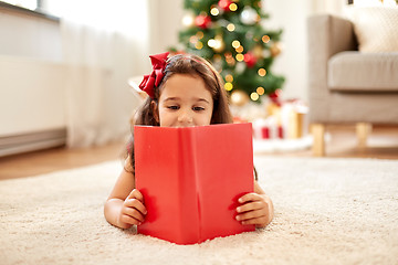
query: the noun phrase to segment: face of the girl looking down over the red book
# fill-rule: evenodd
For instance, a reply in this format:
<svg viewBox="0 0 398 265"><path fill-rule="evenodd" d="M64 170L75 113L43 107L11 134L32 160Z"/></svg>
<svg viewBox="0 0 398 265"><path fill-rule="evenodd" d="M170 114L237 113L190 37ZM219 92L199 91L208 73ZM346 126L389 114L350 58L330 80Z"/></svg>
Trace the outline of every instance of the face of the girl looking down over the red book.
<svg viewBox="0 0 398 265"><path fill-rule="evenodd" d="M210 125L213 100L197 76L175 74L164 85L158 105L160 127Z"/></svg>

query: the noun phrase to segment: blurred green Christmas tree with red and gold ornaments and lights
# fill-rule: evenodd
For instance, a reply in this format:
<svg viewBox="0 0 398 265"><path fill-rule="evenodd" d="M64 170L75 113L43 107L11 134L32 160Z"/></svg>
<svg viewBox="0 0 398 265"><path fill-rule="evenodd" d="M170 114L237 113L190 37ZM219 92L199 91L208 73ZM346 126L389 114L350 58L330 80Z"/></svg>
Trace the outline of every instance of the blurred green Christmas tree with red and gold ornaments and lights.
<svg viewBox="0 0 398 265"><path fill-rule="evenodd" d="M244 94L253 102L262 95L275 97L284 77L271 65L281 52L282 30L266 30L269 18L261 0L185 0L185 29L179 32L179 49L209 60L226 82L226 89Z"/></svg>

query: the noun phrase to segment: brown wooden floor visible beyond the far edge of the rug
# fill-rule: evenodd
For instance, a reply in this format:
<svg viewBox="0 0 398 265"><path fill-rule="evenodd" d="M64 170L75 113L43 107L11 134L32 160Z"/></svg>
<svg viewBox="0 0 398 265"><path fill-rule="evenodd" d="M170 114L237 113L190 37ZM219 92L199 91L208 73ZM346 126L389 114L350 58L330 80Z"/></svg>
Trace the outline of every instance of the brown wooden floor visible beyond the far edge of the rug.
<svg viewBox="0 0 398 265"><path fill-rule="evenodd" d="M331 139L326 144L326 157L378 158L398 160L398 127L374 127L367 147L356 146L354 126L329 126ZM56 170L84 167L108 160L122 161L125 142L113 142L88 149L59 147L42 151L0 158L0 180L23 178ZM312 157L311 149L270 153L272 156Z"/></svg>

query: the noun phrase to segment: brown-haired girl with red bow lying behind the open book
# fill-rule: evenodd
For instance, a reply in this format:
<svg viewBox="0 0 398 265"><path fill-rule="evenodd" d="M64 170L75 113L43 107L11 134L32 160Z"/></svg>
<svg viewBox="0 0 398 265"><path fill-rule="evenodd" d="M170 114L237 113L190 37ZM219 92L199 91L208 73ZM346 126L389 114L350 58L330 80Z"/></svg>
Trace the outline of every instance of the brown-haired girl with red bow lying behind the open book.
<svg viewBox="0 0 398 265"><path fill-rule="evenodd" d="M168 53L150 56L153 73L139 88L148 98L138 110L136 125L161 127L205 126L232 123L223 82L206 60ZM140 225L147 214L145 198L135 189L134 147L129 144L125 167L105 202L105 219L121 229ZM265 227L273 218L271 199L254 180L254 192L239 199L237 222Z"/></svg>

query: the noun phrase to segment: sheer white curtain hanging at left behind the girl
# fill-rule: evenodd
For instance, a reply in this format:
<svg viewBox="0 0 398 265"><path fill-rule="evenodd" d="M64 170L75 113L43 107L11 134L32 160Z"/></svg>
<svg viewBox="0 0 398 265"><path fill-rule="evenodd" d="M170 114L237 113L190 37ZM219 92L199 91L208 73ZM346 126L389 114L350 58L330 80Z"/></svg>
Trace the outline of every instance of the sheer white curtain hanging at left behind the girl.
<svg viewBox="0 0 398 265"><path fill-rule="evenodd" d="M124 139L138 104L128 78L144 73L146 0L54 1L66 63L67 146Z"/></svg>

